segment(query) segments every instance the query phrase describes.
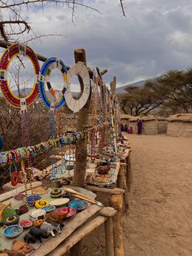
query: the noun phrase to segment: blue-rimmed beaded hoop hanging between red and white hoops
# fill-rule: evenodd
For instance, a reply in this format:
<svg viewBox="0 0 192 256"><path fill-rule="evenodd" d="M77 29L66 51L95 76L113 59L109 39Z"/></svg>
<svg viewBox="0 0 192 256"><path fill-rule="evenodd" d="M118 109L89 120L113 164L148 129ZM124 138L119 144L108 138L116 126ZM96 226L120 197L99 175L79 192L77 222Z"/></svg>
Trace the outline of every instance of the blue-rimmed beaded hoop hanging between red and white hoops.
<svg viewBox="0 0 192 256"><path fill-rule="evenodd" d="M46 105L46 108L50 108L51 106L51 100L49 99L48 95L46 94L46 86L48 90L50 91L50 94L54 96L55 98L55 109L60 108L65 103L65 98L63 96L65 92L65 88L63 86L63 89L59 91L59 93L56 93L56 91L53 89L53 87L50 84L50 73L54 68L58 68L60 72L63 75L63 81L66 82L67 80L67 68L65 67L65 64L63 64L62 60L59 60L55 57L52 57L42 65L41 67L41 75L39 76L39 92L41 99L43 103ZM46 86L45 86L46 85Z"/></svg>

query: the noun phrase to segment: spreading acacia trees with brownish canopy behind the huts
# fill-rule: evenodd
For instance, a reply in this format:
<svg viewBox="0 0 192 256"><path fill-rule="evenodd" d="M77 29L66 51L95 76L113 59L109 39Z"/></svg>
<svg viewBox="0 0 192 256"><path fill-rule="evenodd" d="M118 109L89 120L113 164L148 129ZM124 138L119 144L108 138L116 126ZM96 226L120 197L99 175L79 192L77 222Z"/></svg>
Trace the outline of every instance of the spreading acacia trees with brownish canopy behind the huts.
<svg viewBox="0 0 192 256"><path fill-rule="evenodd" d="M192 112L192 68L172 70L145 85L128 86L120 95L124 113L133 116L147 114L156 109L161 115Z"/></svg>

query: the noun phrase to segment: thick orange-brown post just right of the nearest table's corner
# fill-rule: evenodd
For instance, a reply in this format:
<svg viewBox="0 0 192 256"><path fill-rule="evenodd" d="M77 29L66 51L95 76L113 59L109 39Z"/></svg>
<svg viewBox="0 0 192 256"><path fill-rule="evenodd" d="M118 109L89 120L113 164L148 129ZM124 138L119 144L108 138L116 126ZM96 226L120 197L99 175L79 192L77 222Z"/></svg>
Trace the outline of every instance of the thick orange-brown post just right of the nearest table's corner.
<svg viewBox="0 0 192 256"><path fill-rule="evenodd" d="M122 227L123 198L122 194L112 195L109 199L111 207L117 210L113 217L113 236L115 256L124 256L124 236Z"/></svg>

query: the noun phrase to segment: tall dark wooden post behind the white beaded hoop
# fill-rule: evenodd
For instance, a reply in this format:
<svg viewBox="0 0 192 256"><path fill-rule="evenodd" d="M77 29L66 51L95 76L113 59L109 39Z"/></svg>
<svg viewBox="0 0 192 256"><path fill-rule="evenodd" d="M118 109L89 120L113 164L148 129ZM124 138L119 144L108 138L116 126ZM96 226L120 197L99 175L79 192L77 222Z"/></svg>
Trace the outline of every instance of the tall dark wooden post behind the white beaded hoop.
<svg viewBox="0 0 192 256"><path fill-rule="evenodd" d="M83 62L86 65L86 57L84 49L76 49L74 51L75 62L78 61ZM79 82L81 85L81 91L83 91L83 82L81 77L79 76ZM88 126L89 121L89 106L90 106L90 96L85 104L84 108L81 108L76 130L85 130L85 126ZM81 143L76 144L76 166L75 166L75 174L73 177L72 185L76 187L84 187L85 181L85 170L86 170L86 161L87 161L87 139L85 138Z"/></svg>

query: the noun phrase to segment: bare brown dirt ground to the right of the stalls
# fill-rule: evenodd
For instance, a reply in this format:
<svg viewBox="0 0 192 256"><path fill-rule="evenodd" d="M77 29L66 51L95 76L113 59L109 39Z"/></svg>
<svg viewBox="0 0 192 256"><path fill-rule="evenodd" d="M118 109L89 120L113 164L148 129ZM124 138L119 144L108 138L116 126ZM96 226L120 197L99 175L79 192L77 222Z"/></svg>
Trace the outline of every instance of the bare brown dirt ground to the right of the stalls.
<svg viewBox="0 0 192 256"><path fill-rule="evenodd" d="M129 135L133 195L126 256L192 255L192 138Z"/></svg>

